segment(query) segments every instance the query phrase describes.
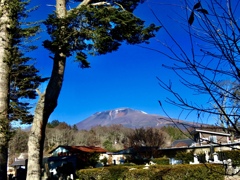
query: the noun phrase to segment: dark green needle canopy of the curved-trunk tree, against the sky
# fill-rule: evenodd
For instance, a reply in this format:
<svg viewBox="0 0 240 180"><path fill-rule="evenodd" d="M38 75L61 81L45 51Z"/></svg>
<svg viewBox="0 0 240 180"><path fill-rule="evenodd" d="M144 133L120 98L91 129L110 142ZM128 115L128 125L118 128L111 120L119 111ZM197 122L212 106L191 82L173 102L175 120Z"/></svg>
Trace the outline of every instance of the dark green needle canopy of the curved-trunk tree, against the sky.
<svg viewBox="0 0 240 180"><path fill-rule="evenodd" d="M124 1L130 9L138 1ZM102 55L116 51L122 42L128 44L148 43L154 32L159 30L154 24L144 27L144 21L131 11L115 6L81 6L71 10L67 17L49 15L45 21L51 40L43 45L53 54L61 49L68 57L76 55L82 68L90 67L87 53ZM63 28L64 27L64 28Z"/></svg>

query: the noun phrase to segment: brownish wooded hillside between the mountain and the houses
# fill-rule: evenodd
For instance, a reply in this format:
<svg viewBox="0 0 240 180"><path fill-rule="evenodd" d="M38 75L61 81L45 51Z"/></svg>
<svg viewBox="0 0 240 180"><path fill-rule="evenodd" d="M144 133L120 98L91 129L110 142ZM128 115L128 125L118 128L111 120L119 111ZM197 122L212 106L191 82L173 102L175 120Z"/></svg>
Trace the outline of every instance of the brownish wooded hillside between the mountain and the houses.
<svg viewBox="0 0 240 180"><path fill-rule="evenodd" d="M27 152L28 134L29 131L26 130L15 130L10 141L11 161L20 153ZM136 136L139 139L136 139ZM157 138L150 142L153 139L152 136ZM54 120L47 125L44 154L45 156L49 155L48 151L58 145L100 146L108 151L117 151L132 146L140 139L144 139L146 145L155 146L160 143L161 147L165 147L172 141L182 138L186 138L186 136L172 126L131 129L122 125L111 125L96 126L90 130L78 130L76 125L70 126L65 122Z"/></svg>

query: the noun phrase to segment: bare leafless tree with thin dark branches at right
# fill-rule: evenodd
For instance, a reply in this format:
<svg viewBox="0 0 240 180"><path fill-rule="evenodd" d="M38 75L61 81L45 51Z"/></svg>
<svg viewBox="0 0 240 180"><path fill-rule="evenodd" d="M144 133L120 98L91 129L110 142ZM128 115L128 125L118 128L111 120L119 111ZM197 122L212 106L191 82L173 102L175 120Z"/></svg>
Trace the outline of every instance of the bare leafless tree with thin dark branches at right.
<svg viewBox="0 0 240 180"><path fill-rule="evenodd" d="M161 48L152 50L171 60L171 64L163 66L175 73L181 89L192 92L192 96L186 95L186 91L180 91L172 81L158 77L160 86L172 95L165 102L179 107L186 117L196 113L198 122L209 118L225 132L238 134L240 2L202 0L191 3L185 0L179 6L185 12L179 14L181 27L188 36L184 42L178 41L179 37L172 34L152 10L170 39L167 43L159 40ZM164 109L163 101L160 106Z"/></svg>

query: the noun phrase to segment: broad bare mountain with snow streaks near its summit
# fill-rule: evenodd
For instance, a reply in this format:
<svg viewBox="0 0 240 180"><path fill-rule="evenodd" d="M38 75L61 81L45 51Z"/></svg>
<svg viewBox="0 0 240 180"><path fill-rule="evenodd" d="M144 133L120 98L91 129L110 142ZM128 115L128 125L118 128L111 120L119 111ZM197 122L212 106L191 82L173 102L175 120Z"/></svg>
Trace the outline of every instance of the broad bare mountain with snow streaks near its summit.
<svg viewBox="0 0 240 180"><path fill-rule="evenodd" d="M141 127L163 127L168 125L189 125L193 126L192 122L169 119L160 115L147 114L143 111L134 110L130 108L118 108L103 112L97 112L85 120L77 123L79 130L89 130L94 126L110 126L113 124L122 124L128 128L141 128ZM199 125L198 125L199 126Z"/></svg>

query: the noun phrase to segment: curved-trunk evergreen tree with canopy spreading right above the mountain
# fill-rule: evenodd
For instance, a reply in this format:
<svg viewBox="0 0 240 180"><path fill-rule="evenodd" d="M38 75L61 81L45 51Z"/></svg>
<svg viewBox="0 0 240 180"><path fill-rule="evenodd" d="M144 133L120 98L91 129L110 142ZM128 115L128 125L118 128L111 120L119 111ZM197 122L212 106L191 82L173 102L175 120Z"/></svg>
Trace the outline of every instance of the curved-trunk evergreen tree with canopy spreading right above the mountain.
<svg viewBox="0 0 240 180"><path fill-rule="evenodd" d="M76 7L71 10L67 10L67 2L57 0L56 13L45 22L51 39L44 41L44 47L52 53L53 69L35 109L28 141L28 180L41 178L45 128L57 106L67 58L75 56L82 68L88 68L87 53L107 54L123 42L148 43L159 29L154 24L145 27L144 21L133 15L142 0L75 0Z"/></svg>

